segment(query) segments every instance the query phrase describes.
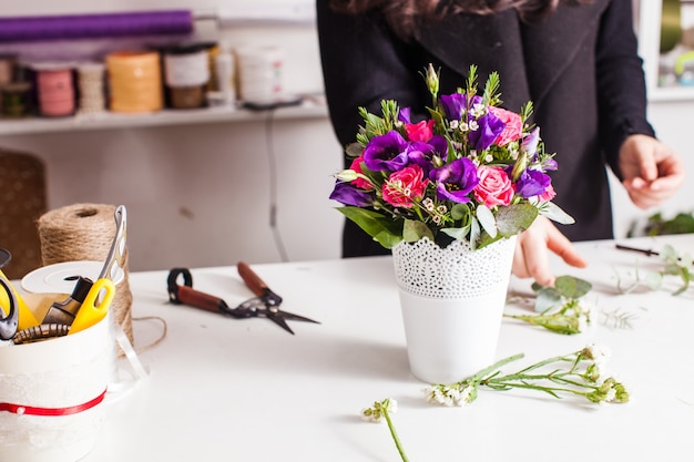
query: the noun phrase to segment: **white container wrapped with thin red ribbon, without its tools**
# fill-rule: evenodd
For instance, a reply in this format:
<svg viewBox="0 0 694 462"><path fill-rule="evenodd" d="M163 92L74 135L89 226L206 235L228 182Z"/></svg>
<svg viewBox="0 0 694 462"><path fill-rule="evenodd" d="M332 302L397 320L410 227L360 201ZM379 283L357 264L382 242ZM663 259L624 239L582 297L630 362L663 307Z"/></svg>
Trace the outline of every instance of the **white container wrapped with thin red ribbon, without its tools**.
<svg viewBox="0 0 694 462"><path fill-rule="evenodd" d="M72 335L0 348L0 461L84 458L102 428L114 361L110 315Z"/></svg>

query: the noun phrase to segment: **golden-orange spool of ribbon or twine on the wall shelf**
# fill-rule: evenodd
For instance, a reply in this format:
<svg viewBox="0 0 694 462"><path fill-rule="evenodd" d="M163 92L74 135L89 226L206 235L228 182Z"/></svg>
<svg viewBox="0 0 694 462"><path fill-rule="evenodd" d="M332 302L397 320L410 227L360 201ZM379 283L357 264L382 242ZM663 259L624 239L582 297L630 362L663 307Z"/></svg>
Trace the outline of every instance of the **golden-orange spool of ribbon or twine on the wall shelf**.
<svg viewBox="0 0 694 462"><path fill-rule="evenodd" d="M155 51L122 51L106 57L110 106L114 112L154 112L163 106L162 70Z"/></svg>

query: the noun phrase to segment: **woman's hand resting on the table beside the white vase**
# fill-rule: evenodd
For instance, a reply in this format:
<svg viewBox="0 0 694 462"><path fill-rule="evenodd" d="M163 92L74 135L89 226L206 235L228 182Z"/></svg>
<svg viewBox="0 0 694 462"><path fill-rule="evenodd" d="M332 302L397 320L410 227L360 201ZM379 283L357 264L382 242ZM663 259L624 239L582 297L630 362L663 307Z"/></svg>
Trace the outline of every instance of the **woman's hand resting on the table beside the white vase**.
<svg viewBox="0 0 694 462"><path fill-rule="evenodd" d="M520 278L532 277L544 287L554 286L554 275L550 270L550 254L559 255L576 268L586 263L571 242L547 217L539 216L534 223L518 236L513 254L513 275Z"/></svg>

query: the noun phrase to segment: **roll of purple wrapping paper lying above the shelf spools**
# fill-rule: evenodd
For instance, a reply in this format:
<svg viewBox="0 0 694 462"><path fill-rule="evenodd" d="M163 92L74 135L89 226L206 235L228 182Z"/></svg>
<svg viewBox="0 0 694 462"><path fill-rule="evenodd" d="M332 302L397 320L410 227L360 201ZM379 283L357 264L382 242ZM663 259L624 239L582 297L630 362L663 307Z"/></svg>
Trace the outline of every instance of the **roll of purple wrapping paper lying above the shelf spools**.
<svg viewBox="0 0 694 462"><path fill-rule="evenodd" d="M0 18L0 43L61 39L186 34L190 10Z"/></svg>

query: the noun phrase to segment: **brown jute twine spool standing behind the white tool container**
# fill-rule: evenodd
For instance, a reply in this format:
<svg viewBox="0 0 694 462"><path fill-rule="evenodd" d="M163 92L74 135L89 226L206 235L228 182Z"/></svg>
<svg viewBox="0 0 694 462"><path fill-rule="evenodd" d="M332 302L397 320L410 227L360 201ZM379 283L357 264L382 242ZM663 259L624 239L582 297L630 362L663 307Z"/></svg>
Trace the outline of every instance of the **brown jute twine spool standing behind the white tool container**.
<svg viewBox="0 0 694 462"><path fill-rule="evenodd" d="M115 236L115 206L104 204L74 204L50 211L38 220L43 265L63 261L105 261ZM115 287L111 312L131 343L132 302L127 269L127 248L124 251L123 280Z"/></svg>

